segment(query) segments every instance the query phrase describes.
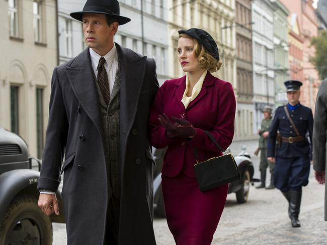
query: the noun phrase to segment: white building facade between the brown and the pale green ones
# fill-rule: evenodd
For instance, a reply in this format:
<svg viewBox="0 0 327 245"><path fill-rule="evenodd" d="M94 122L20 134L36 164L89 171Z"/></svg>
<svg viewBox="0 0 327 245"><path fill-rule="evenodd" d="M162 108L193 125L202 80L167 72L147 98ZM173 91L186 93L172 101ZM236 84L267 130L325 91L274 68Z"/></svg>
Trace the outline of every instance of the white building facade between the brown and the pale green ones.
<svg viewBox="0 0 327 245"><path fill-rule="evenodd" d="M275 104L274 11L275 7L269 0L252 2L254 132L261 127L264 106L274 107Z"/></svg>

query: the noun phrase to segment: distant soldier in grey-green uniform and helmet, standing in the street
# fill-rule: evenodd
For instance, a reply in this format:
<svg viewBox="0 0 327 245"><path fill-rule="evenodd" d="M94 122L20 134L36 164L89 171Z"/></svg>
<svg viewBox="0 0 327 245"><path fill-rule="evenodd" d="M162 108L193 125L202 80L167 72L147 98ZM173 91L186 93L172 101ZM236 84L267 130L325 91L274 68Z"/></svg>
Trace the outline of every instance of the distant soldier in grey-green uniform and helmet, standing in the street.
<svg viewBox="0 0 327 245"><path fill-rule="evenodd" d="M274 189L274 167L275 164L270 162L267 159L267 139L269 135L269 127L272 122L272 111L273 109L266 105L262 112L264 113L264 118L261 122L261 129L258 130L258 134L260 135L259 138L259 149L261 151L260 154L260 175L261 175L261 184L258 185L256 188L265 188L266 187L266 175L267 175L267 168L269 166L269 171L271 174L270 178L270 185L266 189Z"/></svg>

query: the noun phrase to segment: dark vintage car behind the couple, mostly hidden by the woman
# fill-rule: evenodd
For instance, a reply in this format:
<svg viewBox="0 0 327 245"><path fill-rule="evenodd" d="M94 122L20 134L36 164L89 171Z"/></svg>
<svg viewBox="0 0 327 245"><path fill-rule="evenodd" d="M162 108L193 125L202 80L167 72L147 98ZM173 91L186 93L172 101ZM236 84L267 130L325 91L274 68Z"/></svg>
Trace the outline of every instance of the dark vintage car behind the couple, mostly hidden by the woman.
<svg viewBox="0 0 327 245"><path fill-rule="evenodd" d="M161 168L163 162L163 156L166 149L153 149L153 156L156 162L156 166L153 172L153 195L154 195L154 213L158 217L166 217L165 204L163 203L163 196L161 190ZM251 156L246 152L246 147L242 147L242 151L234 156L235 162L240 173L240 180L234 181L229 184L228 194L235 193L236 201L238 203L244 203L248 201L250 186L256 181L253 179L254 167L252 164Z"/></svg>

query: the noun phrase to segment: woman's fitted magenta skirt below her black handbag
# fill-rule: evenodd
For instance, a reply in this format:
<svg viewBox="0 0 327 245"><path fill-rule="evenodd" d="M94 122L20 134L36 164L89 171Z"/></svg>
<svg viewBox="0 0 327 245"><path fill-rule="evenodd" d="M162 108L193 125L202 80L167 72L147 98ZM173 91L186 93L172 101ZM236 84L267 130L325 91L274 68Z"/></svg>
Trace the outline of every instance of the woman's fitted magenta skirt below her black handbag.
<svg viewBox="0 0 327 245"><path fill-rule="evenodd" d="M224 209L228 185L201 192L195 178L161 175L168 227L178 245L210 245Z"/></svg>

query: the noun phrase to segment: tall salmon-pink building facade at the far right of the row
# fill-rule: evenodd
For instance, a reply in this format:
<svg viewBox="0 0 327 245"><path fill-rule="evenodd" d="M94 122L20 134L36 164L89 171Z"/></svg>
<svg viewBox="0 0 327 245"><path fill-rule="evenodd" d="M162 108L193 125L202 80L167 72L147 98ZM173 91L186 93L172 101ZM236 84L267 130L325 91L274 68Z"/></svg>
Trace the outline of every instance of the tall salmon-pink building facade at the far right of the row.
<svg viewBox="0 0 327 245"><path fill-rule="evenodd" d="M317 70L310 62L315 48L311 46L311 39L318 35L318 22L313 9L312 0L280 0L290 11L298 16L299 29L303 38L303 85L301 86L300 101L314 111L314 104L320 84Z"/></svg>

